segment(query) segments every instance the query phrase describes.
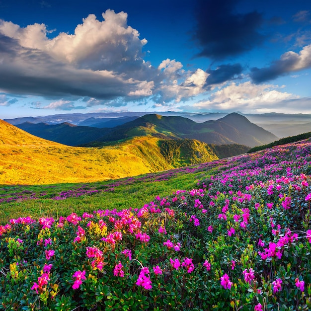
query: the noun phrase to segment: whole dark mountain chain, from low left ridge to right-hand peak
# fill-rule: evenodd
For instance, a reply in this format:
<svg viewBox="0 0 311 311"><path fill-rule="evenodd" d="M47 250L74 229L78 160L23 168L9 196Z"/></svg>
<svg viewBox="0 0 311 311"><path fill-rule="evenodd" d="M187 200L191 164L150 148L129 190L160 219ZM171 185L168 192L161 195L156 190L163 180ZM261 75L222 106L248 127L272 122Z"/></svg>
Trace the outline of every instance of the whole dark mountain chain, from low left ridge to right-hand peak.
<svg viewBox="0 0 311 311"><path fill-rule="evenodd" d="M128 117L123 120L128 120ZM250 148L278 139L272 133L251 123L238 113L231 113L218 120L202 123L180 116L148 114L113 128L95 128L70 123L50 125L30 123L29 121L16 126L47 140L69 146L84 145L88 147L98 147L137 136L153 136L173 140L195 139L206 144L239 144Z"/></svg>

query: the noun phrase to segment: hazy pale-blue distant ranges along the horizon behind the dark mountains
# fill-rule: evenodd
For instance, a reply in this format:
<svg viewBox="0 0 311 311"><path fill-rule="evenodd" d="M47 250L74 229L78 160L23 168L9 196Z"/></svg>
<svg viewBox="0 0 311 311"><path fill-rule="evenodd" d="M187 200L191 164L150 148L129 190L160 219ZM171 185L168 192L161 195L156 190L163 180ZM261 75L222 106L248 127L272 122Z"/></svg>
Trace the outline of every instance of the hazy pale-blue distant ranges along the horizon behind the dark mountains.
<svg viewBox="0 0 311 311"><path fill-rule="evenodd" d="M117 125L132 121L146 115L146 112L96 112L96 113L67 113L40 117L22 117L4 119L4 121L17 125L24 122L46 123L50 125L71 123L80 126L91 126L98 128L112 128ZM149 112L148 114L159 114L162 116L179 116L191 119L197 123L210 120L218 120L230 113L190 113L190 112ZM263 113L263 114L238 114L246 117L250 122L264 128L279 138L298 135L311 131L311 114L285 114L285 113Z"/></svg>

